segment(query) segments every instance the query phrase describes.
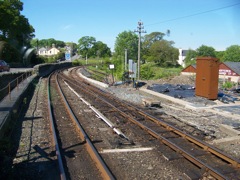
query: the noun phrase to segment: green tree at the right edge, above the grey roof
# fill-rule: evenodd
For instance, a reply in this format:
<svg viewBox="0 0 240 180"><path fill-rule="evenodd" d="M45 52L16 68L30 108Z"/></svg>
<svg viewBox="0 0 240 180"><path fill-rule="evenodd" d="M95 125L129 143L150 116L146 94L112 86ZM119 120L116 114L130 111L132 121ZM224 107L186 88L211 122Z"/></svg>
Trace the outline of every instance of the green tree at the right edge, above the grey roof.
<svg viewBox="0 0 240 180"><path fill-rule="evenodd" d="M224 52L222 60L232 61L232 62L240 62L240 46L239 45L232 45L226 49Z"/></svg>

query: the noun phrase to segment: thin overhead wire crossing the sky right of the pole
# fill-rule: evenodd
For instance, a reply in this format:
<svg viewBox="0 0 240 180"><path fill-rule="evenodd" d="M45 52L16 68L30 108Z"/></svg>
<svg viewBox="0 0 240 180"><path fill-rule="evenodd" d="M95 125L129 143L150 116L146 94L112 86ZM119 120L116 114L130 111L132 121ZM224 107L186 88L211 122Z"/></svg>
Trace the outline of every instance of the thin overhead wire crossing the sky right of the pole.
<svg viewBox="0 0 240 180"><path fill-rule="evenodd" d="M207 10L207 11L203 11L203 12L199 12L199 13L195 13L195 14L190 14L190 15L186 15L186 16L181 16L181 17L177 17L177 18L173 18L173 19L168 19L168 20L164 20L164 21L160 21L160 22L156 22L156 23L152 23L152 24L147 24L145 26L152 26L152 25L162 24L162 23L166 23L166 22L170 22L170 21L176 21L176 20L179 20L179 19L185 19L185 18L189 18L189 17L192 17L192 16L206 14L206 13L214 12L214 11L219 11L219 10L222 10L222 9L226 9L226 8L230 8L230 7L238 6L238 5L240 5L240 3L231 4L231 5L228 5L228 6L224 6L224 7L220 7L220 8L216 8L216 9L211 9L211 10Z"/></svg>

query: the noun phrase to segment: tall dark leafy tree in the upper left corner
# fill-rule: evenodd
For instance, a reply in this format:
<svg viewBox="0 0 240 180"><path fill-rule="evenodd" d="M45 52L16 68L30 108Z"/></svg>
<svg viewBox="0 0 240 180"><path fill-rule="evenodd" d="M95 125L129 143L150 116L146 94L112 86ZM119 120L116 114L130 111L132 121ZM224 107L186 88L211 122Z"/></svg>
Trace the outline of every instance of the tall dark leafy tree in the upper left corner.
<svg viewBox="0 0 240 180"><path fill-rule="evenodd" d="M8 62L20 61L22 47L34 37L35 30L22 10L19 0L0 1L0 58Z"/></svg>

